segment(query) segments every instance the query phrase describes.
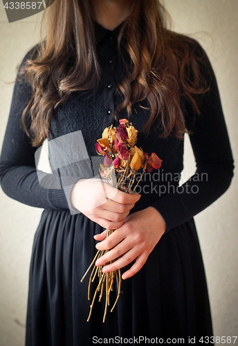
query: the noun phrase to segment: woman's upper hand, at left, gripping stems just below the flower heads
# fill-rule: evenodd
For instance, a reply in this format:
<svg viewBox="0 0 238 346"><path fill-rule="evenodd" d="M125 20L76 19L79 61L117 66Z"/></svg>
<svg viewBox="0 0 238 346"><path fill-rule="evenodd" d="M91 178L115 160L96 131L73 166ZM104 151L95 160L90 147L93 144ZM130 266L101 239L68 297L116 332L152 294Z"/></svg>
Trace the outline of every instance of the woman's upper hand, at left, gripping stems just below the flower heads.
<svg viewBox="0 0 238 346"><path fill-rule="evenodd" d="M127 194L102 181L80 179L71 191L72 206L103 228L120 228L140 194Z"/></svg>

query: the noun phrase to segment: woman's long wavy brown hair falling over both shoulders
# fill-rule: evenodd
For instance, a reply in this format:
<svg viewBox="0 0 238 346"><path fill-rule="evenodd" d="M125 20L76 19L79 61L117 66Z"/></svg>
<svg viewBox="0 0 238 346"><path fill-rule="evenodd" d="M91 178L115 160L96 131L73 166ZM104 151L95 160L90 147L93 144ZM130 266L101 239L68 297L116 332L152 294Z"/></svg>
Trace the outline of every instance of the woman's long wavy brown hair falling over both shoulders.
<svg viewBox="0 0 238 346"><path fill-rule="evenodd" d="M129 117L133 104L147 100L151 115L144 129L148 130L159 116L163 137L172 133L182 138L186 128L181 95L199 113L194 96L207 88L201 78L203 59L193 52L191 39L166 28L166 11L159 1L133 0L132 7L118 36L120 48L122 35L127 32L131 64L118 85L124 101L115 116L126 109ZM33 95L22 121L35 146L48 137L57 105L73 91L92 89L100 80L89 1L55 0L48 11L46 39L23 68Z"/></svg>

